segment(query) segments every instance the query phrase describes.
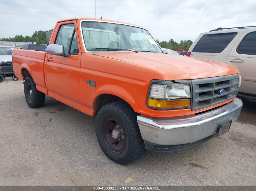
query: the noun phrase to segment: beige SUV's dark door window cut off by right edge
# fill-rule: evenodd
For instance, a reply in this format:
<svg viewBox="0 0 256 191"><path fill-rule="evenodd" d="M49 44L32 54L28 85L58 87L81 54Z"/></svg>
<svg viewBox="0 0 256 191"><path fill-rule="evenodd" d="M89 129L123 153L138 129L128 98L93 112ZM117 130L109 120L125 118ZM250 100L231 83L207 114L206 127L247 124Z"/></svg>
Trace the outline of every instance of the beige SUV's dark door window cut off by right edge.
<svg viewBox="0 0 256 191"><path fill-rule="evenodd" d="M247 34L237 48L239 54L256 55L256 32Z"/></svg>

